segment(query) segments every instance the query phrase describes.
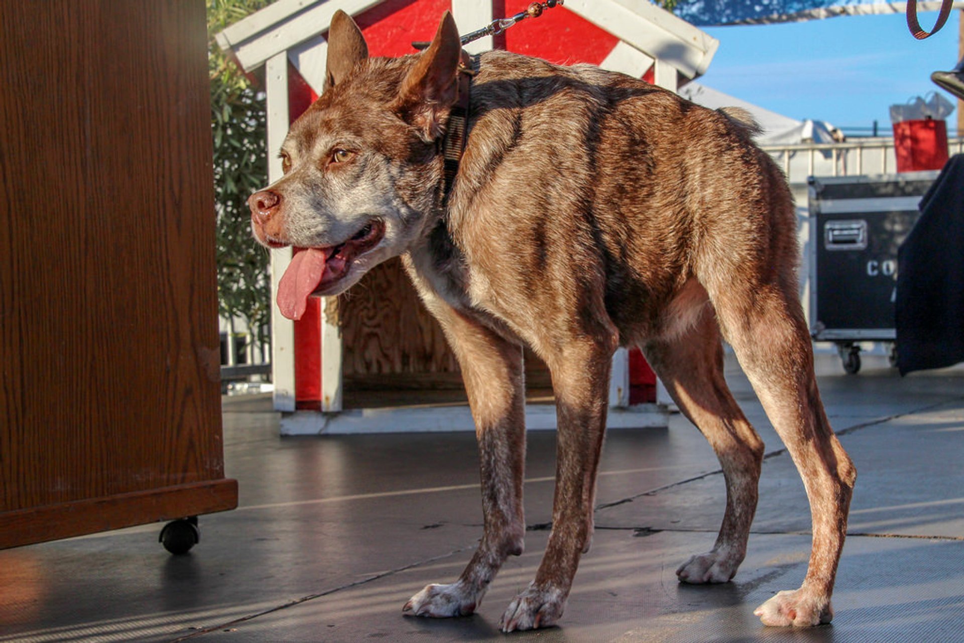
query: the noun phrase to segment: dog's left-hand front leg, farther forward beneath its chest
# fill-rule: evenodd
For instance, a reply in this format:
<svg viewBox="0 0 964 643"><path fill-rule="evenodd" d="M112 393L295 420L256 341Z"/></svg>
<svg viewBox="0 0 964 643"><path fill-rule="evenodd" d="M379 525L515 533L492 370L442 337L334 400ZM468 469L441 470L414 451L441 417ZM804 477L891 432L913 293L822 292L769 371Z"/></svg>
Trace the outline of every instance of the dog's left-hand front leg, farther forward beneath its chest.
<svg viewBox="0 0 964 643"><path fill-rule="evenodd" d="M469 393L481 458L485 532L457 581L428 585L405 604L403 611L417 616L461 616L471 614L481 603L506 557L522 553L522 348L442 302L431 302L430 308L455 351Z"/></svg>

